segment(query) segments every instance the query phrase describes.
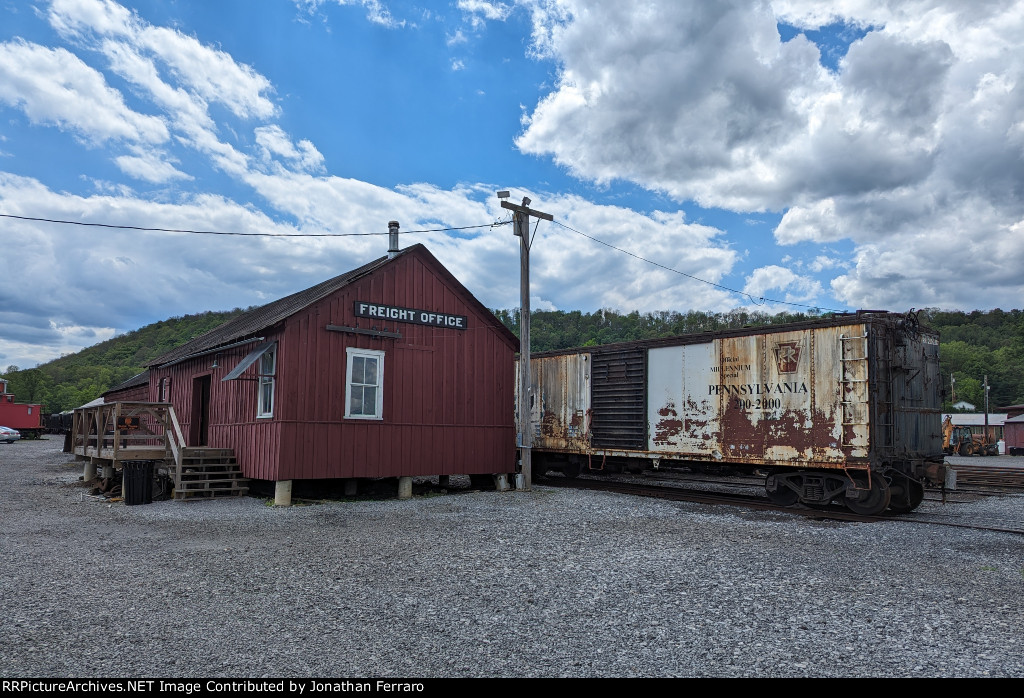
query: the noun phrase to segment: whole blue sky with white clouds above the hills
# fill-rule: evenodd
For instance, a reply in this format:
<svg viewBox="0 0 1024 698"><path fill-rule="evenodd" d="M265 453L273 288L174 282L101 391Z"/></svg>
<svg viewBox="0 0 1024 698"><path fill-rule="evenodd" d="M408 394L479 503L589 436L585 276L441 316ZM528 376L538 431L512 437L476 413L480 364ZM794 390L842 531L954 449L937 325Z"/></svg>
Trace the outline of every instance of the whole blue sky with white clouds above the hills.
<svg viewBox="0 0 1024 698"><path fill-rule="evenodd" d="M0 0L0 367L306 288L392 219L485 226L403 244L515 307L500 188L555 217L536 308L1021 307L1021 36L999 0Z"/></svg>

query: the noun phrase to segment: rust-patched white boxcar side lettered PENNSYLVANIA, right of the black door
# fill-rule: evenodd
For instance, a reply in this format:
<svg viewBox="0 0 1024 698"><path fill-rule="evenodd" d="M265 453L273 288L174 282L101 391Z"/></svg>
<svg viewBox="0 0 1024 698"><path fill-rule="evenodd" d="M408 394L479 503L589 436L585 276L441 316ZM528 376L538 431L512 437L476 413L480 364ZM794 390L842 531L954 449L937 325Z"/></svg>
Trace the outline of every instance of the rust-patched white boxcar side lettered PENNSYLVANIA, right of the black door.
<svg viewBox="0 0 1024 698"><path fill-rule="evenodd" d="M819 328L651 349L648 448L757 464L866 456L866 361L854 346L863 343L841 339L863 331Z"/></svg>

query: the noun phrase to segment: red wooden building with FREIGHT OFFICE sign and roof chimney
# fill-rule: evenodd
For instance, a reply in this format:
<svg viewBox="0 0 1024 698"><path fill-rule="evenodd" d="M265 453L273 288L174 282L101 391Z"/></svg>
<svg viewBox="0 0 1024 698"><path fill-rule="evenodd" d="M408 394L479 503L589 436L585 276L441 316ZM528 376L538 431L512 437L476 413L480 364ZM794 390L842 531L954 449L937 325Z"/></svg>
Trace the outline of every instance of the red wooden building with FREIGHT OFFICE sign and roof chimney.
<svg viewBox="0 0 1024 698"><path fill-rule="evenodd" d="M233 449L281 504L293 480L514 472L517 338L390 226L386 257L150 365L187 444Z"/></svg>

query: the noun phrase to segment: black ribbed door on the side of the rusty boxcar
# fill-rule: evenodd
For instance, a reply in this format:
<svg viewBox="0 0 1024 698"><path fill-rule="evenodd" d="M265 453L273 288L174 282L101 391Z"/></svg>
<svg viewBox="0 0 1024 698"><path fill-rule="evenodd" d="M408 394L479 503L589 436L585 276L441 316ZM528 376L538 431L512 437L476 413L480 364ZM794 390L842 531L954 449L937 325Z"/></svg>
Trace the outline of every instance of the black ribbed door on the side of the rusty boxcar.
<svg viewBox="0 0 1024 698"><path fill-rule="evenodd" d="M647 441L647 357L637 347L591 353L592 443L644 448Z"/></svg>

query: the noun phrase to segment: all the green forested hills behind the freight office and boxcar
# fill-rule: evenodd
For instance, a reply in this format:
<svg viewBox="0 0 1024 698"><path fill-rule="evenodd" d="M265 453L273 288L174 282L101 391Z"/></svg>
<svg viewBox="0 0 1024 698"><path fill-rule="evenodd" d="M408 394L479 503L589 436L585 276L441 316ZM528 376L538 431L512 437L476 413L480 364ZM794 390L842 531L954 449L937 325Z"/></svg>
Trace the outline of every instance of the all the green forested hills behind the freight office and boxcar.
<svg viewBox="0 0 1024 698"><path fill-rule="evenodd" d="M93 347L19 370L7 366L3 377L18 402L41 402L45 411L60 411L84 404L138 374L145 364L221 322L243 312L207 312L172 317ZM497 310L498 317L519 333L515 310ZM780 324L811 319L803 313L731 311L727 313L691 310L686 313L537 311L531 316L530 345L535 352L569 347L595 346L612 342L671 337L697 332ZM989 407L1024 403L1024 311L988 310L973 312L925 309L921 321L941 334L941 369L946 392L944 409L952 395L950 376L956 379L956 399L985 404L984 377L988 376Z"/></svg>

